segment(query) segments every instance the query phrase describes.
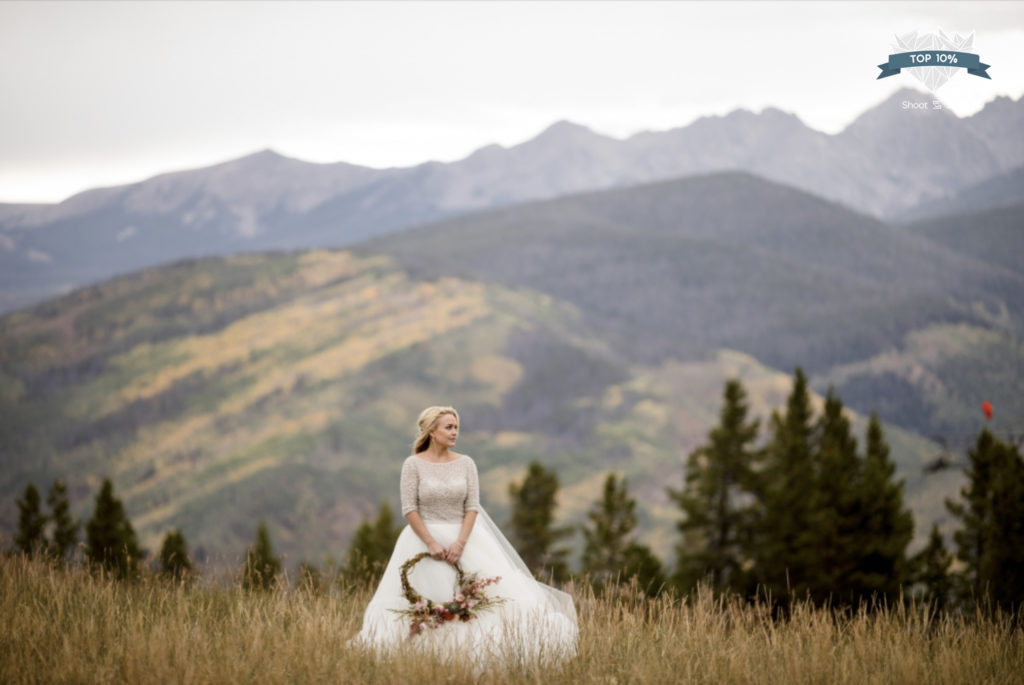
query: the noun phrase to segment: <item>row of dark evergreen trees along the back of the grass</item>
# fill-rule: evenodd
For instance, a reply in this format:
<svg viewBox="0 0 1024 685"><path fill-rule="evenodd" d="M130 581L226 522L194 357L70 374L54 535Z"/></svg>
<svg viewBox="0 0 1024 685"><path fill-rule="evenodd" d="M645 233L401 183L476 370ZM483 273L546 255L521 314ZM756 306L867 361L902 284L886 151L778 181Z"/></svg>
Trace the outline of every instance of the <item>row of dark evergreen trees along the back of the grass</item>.
<svg viewBox="0 0 1024 685"><path fill-rule="evenodd" d="M863 449L842 400L831 390L815 416L807 379L797 369L784 410L762 435L738 380L726 382L718 424L688 455L681 488L668 488L680 514L674 568L638 538L636 500L628 481L607 474L600 499L577 527L555 524L557 474L539 462L509 486L511 516L504 529L530 570L544 580L590 584L598 593L638 589L648 596L688 593L705 585L716 593L819 605L896 602L909 591L938 608L1024 604L1024 459L1016 445L983 429L969 451L967 484L946 508L957 528L955 553L937 525L928 544L908 556L913 519L895 477L881 422L872 415ZM70 514L67 488L54 481L43 514L30 483L17 501L16 548L65 563L80 522ZM144 553L113 485L104 480L86 524L84 557L119 577L138 573ZM364 520L349 544L337 581L372 585L383 572L401 526L388 505ZM569 539L582 532L579 568L569 568ZM195 574L180 530L168 532L159 572ZM250 589L281 582L282 559L266 524L240 569ZM323 573L303 563L297 582L326 587Z"/></svg>

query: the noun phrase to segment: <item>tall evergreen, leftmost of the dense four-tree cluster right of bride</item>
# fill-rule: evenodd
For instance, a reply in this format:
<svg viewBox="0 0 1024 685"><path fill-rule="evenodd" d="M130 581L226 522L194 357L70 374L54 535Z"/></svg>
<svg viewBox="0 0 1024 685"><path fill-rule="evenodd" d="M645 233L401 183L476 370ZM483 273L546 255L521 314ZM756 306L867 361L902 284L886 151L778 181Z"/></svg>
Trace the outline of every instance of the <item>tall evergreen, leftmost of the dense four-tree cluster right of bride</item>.
<svg viewBox="0 0 1024 685"><path fill-rule="evenodd" d="M683 515L675 576L683 591L706 579L716 591L749 589L741 570L752 534L759 422L748 421L748 412L742 384L726 382L718 426L689 455L684 488L669 489Z"/></svg>

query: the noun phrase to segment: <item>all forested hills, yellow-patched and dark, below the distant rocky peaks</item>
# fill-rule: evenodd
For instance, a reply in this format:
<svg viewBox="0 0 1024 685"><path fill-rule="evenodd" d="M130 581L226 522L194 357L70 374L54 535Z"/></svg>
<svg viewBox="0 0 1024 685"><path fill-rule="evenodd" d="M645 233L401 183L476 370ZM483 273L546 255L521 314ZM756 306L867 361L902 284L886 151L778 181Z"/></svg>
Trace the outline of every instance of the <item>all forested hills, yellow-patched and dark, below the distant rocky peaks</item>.
<svg viewBox="0 0 1024 685"><path fill-rule="evenodd" d="M889 223L729 171L80 288L0 317L0 529L29 480L68 479L81 515L109 475L151 549L180 527L234 562L264 518L290 563L337 558L443 402L497 519L530 460L569 523L616 470L668 557L665 487L725 380L764 424L801 365L859 436L882 416L921 538L962 481L923 472L941 442L982 399L1002 433L1024 412L1024 205L997 205Z"/></svg>

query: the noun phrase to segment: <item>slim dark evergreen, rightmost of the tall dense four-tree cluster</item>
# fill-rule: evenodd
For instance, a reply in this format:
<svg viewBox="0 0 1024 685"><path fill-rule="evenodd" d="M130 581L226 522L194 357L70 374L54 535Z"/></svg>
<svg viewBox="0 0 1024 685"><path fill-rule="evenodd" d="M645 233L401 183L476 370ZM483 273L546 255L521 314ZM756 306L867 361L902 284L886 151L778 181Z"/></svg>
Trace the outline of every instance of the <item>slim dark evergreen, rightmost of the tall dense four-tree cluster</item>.
<svg viewBox="0 0 1024 685"><path fill-rule="evenodd" d="M913 538L913 516L903 506L903 481L894 480L896 465L874 414L867 425L863 471L859 530L851 541L857 551L851 586L862 600L874 595L895 599L910 580L906 548Z"/></svg>

